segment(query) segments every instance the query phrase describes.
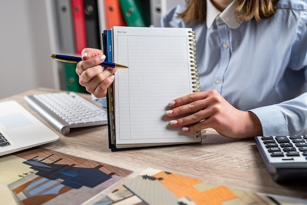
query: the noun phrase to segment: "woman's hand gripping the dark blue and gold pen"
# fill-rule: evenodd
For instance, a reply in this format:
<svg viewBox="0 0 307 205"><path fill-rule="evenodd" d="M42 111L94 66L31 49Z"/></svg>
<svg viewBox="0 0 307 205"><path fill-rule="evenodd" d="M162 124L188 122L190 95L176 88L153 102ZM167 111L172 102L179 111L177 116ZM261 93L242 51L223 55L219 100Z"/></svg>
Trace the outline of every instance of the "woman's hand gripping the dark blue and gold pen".
<svg viewBox="0 0 307 205"><path fill-rule="evenodd" d="M85 48L81 52L82 60L77 63L76 73L79 76L80 85L84 86L89 93L96 98L106 96L107 88L114 80L116 68L104 68L99 65L105 55L102 50Z"/></svg>

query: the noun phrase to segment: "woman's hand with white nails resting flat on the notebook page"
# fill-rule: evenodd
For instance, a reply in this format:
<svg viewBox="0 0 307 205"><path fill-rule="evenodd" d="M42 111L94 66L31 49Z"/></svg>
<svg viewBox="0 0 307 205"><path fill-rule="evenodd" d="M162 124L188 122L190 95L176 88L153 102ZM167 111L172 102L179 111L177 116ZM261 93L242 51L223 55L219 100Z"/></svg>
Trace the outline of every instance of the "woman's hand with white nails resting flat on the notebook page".
<svg viewBox="0 0 307 205"><path fill-rule="evenodd" d="M216 90L195 92L170 102L167 117L173 127L191 133L214 128L219 134L230 138L248 138L262 135L262 127L256 115L241 111L228 103ZM185 117L180 117L180 116Z"/></svg>

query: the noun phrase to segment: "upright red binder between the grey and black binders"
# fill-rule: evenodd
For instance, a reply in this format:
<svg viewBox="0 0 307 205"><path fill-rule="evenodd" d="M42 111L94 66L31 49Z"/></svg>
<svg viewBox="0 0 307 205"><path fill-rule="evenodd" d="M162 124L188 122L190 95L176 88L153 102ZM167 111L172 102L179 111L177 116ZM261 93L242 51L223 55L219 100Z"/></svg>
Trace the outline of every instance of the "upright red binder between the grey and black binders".
<svg viewBox="0 0 307 205"><path fill-rule="evenodd" d="M76 53L81 54L81 51L87 47L86 27L83 0L71 0L73 25L75 34Z"/></svg>

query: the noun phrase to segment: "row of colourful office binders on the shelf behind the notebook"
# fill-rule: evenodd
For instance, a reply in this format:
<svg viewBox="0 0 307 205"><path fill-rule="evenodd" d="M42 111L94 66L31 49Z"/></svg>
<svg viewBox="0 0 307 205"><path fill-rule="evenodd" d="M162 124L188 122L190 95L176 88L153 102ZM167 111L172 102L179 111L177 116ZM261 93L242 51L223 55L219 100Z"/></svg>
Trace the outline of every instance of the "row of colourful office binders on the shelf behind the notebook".
<svg viewBox="0 0 307 205"><path fill-rule="evenodd" d="M48 1L51 54L80 56L86 47L102 49L103 30L113 26L160 26L163 13L182 2L184 0ZM52 65L56 67L60 89L86 92L79 85L75 64L55 62Z"/></svg>

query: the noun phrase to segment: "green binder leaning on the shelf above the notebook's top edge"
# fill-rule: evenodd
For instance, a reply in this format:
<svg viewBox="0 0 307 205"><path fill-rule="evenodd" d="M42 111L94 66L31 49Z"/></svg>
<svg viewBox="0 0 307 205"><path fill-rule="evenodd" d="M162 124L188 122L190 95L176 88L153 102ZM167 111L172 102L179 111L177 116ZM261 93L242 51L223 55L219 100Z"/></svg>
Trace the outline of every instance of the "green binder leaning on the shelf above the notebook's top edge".
<svg viewBox="0 0 307 205"><path fill-rule="evenodd" d="M150 26L150 0L119 0L119 2L128 26Z"/></svg>

